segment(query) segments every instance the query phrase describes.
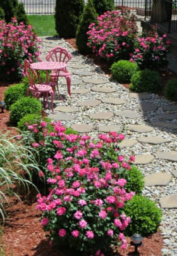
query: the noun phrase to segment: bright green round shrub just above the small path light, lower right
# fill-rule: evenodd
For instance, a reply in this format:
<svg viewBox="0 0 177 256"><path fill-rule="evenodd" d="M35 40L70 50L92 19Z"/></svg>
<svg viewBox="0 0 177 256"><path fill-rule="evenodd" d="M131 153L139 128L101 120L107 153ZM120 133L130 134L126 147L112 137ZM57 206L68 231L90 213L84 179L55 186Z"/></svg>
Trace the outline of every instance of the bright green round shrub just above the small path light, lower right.
<svg viewBox="0 0 177 256"><path fill-rule="evenodd" d="M125 214L131 218L131 222L125 229L125 234L138 233L142 236L156 233L162 219L162 211L149 198L135 195L125 204Z"/></svg>

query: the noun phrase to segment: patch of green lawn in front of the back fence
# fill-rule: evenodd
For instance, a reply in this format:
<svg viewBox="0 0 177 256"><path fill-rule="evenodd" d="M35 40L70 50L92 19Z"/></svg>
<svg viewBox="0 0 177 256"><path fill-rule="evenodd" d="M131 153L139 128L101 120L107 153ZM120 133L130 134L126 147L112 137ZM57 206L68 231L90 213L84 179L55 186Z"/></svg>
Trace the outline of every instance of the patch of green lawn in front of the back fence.
<svg viewBox="0 0 177 256"><path fill-rule="evenodd" d="M30 25L34 27L37 36L57 35L54 15L28 15Z"/></svg>

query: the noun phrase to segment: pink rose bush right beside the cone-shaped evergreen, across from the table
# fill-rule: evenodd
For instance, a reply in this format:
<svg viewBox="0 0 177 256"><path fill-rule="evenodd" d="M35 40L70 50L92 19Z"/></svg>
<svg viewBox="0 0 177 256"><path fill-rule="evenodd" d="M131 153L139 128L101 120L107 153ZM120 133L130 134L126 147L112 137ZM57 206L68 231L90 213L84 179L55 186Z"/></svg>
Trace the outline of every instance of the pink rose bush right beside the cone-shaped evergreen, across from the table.
<svg viewBox="0 0 177 256"><path fill-rule="evenodd" d="M129 59L138 27L136 16L128 10L107 11L90 24L87 46L97 56L111 62Z"/></svg>

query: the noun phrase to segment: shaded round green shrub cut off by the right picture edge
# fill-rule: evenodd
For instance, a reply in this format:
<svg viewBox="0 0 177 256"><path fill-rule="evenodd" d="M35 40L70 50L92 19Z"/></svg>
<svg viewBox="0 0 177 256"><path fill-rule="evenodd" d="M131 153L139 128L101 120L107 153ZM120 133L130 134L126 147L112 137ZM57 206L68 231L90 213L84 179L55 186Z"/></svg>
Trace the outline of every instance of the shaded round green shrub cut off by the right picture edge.
<svg viewBox="0 0 177 256"><path fill-rule="evenodd" d="M173 78L166 83L164 95L172 101L177 101L177 79Z"/></svg>

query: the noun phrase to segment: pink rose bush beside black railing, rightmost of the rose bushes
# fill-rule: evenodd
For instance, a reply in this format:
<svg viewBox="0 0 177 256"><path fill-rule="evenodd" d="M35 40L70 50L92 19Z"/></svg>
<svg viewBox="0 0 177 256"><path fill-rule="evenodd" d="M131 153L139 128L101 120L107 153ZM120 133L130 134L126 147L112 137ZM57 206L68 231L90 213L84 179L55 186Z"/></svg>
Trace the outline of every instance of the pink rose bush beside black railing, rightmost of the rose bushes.
<svg viewBox="0 0 177 256"><path fill-rule="evenodd" d="M159 70L167 65L167 53L171 41L157 33L157 26L152 27L147 36L137 37L135 50L130 54L130 61L137 62L141 69Z"/></svg>

